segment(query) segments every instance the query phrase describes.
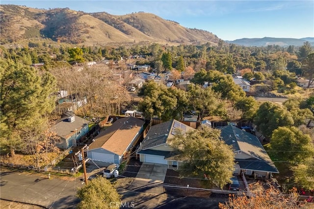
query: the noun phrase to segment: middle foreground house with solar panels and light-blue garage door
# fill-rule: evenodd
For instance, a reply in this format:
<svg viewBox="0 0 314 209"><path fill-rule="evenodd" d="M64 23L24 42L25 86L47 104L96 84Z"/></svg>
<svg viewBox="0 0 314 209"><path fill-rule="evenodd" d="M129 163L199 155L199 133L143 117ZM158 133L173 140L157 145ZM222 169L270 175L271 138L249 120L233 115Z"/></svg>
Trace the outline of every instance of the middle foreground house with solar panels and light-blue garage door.
<svg viewBox="0 0 314 209"><path fill-rule="evenodd" d="M136 154L141 162L151 162L168 165L168 168L178 169L179 163L175 159L175 149L167 143L169 138L174 137L177 130L184 133L193 128L173 119L164 123L152 126L140 145Z"/></svg>

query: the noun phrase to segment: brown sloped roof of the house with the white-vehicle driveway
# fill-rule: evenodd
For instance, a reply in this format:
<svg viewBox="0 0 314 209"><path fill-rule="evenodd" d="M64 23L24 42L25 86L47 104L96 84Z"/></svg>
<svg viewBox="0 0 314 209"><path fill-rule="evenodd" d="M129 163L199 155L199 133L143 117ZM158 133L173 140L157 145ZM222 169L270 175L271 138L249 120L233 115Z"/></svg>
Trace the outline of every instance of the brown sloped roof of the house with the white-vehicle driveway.
<svg viewBox="0 0 314 209"><path fill-rule="evenodd" d="M96 136L95 141L88 146L88 149L103 148L121 156L144 124L144 121L134 117L118 119L108 129Z"/></svg>

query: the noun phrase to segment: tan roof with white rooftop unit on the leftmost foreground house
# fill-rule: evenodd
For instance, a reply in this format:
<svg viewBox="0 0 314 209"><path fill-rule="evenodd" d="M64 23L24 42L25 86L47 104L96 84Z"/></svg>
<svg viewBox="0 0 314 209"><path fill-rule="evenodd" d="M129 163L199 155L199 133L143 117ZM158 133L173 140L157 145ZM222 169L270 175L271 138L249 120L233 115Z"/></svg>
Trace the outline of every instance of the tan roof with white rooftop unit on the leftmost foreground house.
<svg viewBox="0 0 314 209"><path fill-rule="evenodd" d="M55 132L58 136L67 139L75 134L77 131L81 130L84 126L89 124L89 121L80 118L76 115L73 115L75 120L73 122L67 121L69 116L65 116L59 119L54 126L50 129L52 132Z"/></svg>

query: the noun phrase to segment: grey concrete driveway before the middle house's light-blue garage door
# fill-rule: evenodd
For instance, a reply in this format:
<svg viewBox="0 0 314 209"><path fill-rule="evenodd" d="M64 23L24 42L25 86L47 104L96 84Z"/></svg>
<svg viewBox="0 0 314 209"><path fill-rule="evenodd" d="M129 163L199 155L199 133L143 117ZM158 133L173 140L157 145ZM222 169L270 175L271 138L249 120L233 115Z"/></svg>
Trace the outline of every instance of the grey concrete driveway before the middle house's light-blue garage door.
<svg viewBox="0 0 314 209"><path fill-rule="evenodd" d="M135 180L147 181L151 183L163 183L166 177L168 166L144 162L139 169Z"/></svg>

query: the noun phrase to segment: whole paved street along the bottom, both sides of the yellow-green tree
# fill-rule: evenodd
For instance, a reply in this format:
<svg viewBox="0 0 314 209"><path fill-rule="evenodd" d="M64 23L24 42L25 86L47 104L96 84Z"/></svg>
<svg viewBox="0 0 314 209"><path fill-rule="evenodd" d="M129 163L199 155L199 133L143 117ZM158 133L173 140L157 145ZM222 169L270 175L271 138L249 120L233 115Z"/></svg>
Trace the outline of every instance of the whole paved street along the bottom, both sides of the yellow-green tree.
<svg viewBox="0 0 314 209"><path fill-rule="evenodd" d="M72 180L72 181L71 181ZM1 172L2 199L35 204L49 209L74 209L79 200L75 196L82 186L79 178L48 179L20 172ZM147 181L134 181L127 189L118 189L122 195L121 208L141 209L218 209L225 196L208 198L174 196L164 192L163 186Z"/></svg>

